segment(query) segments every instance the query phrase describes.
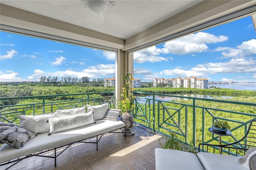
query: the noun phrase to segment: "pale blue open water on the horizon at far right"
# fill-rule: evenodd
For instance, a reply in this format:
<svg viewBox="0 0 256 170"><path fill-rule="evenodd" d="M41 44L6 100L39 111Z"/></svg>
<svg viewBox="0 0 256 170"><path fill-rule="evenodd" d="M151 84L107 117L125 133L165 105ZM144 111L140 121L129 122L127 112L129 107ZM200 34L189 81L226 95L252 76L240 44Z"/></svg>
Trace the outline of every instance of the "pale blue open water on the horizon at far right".
<svg viewBox="0 0 256 170"><path fill-rule="evenodd" d="M210 86L220 87L222 89L250 90L256 91L256 83L230 83L230 84L209 84Z"/></svg>

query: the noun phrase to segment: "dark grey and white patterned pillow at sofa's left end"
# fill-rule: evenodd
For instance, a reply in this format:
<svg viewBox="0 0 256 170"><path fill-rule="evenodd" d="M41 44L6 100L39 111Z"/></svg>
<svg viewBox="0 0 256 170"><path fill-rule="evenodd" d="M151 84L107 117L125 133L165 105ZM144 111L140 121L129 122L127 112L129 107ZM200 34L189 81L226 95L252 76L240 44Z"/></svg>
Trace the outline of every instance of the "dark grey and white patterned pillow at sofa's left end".
<svg viewBox="0 0 256 170"><path fill-rule="evenodd" d="M22 148L28 140L36 137L36 134L17 126L5 130L0 135L0 141L15 148Z"/></svg>

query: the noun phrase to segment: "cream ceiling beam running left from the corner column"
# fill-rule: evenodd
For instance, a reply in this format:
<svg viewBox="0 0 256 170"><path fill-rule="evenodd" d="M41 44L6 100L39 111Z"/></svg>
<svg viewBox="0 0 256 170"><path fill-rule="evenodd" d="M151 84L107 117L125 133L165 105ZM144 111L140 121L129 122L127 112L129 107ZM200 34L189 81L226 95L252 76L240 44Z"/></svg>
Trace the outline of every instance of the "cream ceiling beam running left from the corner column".
<svg viewBox="0 0 256 170"><path fill-rule="evenodd" d="M5 4L0 4L0 15L0 23L7 26L116 49L122 49L124 45L122 38L96 32Z"/></svg>

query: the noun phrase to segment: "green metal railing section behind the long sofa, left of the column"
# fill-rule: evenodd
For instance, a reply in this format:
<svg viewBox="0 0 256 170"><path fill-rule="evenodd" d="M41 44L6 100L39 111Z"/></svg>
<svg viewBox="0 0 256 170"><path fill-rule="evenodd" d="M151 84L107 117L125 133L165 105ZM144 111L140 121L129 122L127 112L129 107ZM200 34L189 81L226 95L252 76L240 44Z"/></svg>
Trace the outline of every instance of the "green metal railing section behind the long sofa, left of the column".
<svg viewBox="0 0 256 170"><path fill-rule="evenodd" d="M1 105L1 122L19 124L18 115L40 115L45 113L53 113L57 109L72 109L83 107L84 105L88 104L100 105L102 103L108 103L110 108L115 108L114 91L0 98L1 103L12 100L20 101L20 103L24 101L23 103L26 104Z"/></svg>

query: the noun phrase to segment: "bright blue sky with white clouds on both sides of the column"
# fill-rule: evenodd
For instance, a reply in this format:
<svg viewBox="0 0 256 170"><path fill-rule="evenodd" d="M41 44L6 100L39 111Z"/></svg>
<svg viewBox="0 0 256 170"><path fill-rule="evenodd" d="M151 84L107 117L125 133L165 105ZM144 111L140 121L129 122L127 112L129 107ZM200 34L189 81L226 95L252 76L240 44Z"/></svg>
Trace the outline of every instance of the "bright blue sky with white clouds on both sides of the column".
<svg viewBox="0 0 256 170"><path fill-rule="evenodd" d="M42 76L109 78L115 53L0 32L0 81ZM134 53L134 78L192 77L256 82L256 32L250 16Z"/></svg>

